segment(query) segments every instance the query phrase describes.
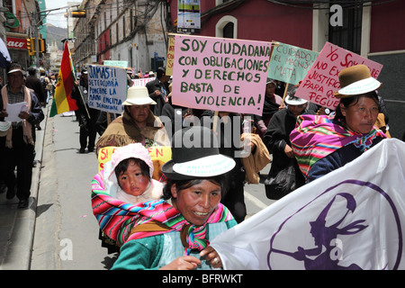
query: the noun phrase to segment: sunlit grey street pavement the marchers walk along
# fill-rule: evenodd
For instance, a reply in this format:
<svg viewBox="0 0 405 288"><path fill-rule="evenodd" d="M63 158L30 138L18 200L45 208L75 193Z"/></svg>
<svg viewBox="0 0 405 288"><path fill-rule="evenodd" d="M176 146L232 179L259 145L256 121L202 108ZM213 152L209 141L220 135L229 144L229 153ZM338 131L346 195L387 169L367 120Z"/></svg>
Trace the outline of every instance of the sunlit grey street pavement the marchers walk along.
<svg viewBox="0 0 405 288"><path fill-rule="evenodd" d="M78 153L74 115L48 118L44 127L31 270L109 269L116 255L101 247L90 201L91 180L97 173L95 154ZM247 184L245 199L247 217L274 202L266 198L263 184Z"/></svg>

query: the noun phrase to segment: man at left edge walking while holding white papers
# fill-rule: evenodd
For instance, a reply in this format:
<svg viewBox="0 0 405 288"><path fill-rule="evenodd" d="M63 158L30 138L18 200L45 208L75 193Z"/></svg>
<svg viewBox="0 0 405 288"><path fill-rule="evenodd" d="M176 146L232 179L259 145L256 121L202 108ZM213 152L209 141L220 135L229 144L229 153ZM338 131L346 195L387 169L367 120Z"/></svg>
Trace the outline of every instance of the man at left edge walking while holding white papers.
<svg viewBox="0 0 405 288"><path fill-rule="evenodd" d="M0 137L0 176L7 186L7 199L17 194L18 208L28 207L31 194L32 162L35 148L35 125L44 119L40 102L34 93L24 85L24 71L18 64L12 64L7 73L8 83L1 90L0 121L9 116L7 105L23 103L18 114L20 121L13 121L4 137ZM14 169L17 166L17 177Z"/></svg>

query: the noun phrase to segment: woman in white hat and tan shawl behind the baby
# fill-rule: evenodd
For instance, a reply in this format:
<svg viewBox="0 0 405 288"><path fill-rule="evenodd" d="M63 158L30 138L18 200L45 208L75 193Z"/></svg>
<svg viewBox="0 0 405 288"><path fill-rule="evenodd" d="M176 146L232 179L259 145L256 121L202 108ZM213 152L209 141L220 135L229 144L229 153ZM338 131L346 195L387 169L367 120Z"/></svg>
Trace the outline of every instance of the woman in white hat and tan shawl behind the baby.
<svg viewBox="0 0 405 288"><path fill-rule="evenodd" d="M156 104L145 86L132 86L122 103L122 115L112 121L96 143L97 154L100 148L121 147L130 143L151 146L169 146L170 140L161 121L150 111L149 104Z"/></svg>

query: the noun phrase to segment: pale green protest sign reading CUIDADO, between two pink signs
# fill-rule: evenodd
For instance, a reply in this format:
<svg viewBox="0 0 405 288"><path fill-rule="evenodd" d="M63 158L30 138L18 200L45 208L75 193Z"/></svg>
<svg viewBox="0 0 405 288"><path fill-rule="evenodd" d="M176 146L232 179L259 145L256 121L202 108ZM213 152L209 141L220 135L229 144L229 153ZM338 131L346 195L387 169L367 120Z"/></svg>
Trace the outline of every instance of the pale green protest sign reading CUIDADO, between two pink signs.
<svg viewBox="0 0 405 288"><path fill-rule="evenodd" d="M272 52L267 76L293 85L300 83L320 53L277 43Z"/></svg>

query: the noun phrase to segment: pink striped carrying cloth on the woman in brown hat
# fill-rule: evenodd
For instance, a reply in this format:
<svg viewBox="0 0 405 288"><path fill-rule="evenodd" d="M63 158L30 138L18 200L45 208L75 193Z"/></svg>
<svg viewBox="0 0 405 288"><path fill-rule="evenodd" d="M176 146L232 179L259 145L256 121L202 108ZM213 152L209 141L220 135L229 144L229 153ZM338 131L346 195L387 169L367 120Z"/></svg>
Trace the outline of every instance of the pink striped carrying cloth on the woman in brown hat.
<svg viewBox="0 0 405 288"><path fill-rule="evenodd" d="M346 130L333 123L334 114L307 115L297 118L297 126L290 134L292 148L298 165L305 178L308 177L311 166L330 153L354 144L362 152L370 148L376 137L386 138L382 130L374 129L364 135Z"/></svg>

